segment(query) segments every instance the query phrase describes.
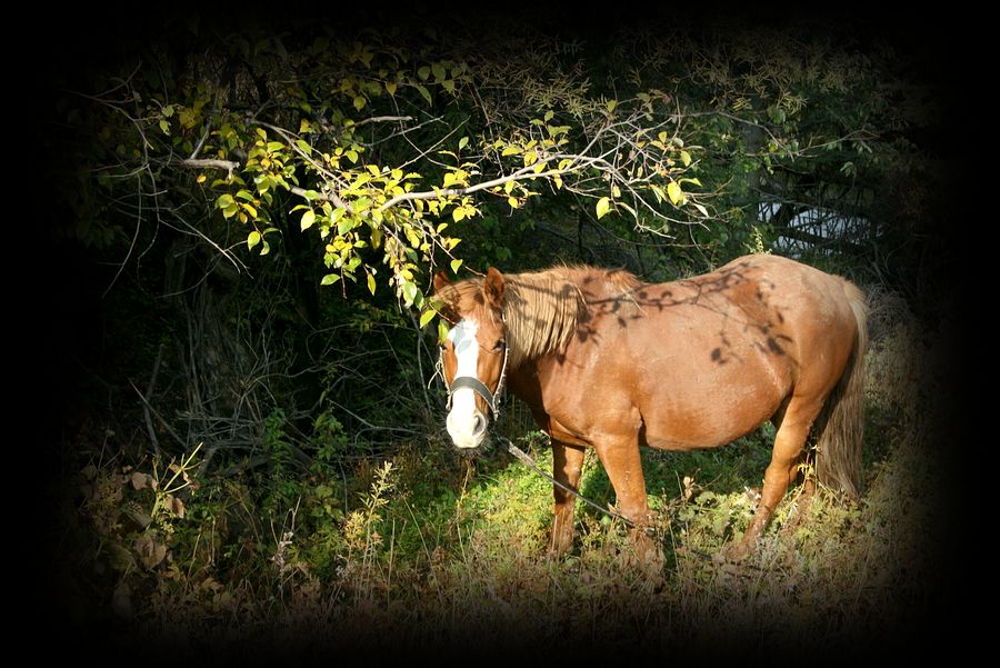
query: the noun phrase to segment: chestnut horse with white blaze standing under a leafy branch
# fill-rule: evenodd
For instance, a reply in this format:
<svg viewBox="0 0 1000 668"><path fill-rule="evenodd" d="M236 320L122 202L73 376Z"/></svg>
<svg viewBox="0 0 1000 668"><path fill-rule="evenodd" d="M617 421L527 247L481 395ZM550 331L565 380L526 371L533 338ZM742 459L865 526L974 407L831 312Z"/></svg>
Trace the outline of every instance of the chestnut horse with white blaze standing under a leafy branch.
<svg viewBox="0 0 1000 668"><path fill-rule="evenodd" d="M766 420L776 428L743 555L796 478L810 429L819 481L857 496L867 345L864 295L847 280L770 256L691 279L641 283L624 271L558 267L448 283L442 315L447 427L460 449L486 438L502 385L552 440L554 478L580 482L592 447L651 547L639 447L714 448ZM572 545L574 498L554 488L550 551Z"/></svg>

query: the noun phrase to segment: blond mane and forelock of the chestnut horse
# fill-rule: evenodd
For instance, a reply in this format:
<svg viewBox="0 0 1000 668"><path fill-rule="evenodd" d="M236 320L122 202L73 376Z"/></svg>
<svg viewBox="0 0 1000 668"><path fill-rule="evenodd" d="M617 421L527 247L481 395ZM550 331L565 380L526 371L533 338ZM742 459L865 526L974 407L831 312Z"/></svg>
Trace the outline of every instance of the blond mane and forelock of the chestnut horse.
<svg viewBox="0 0 1000 668"><path fill-rule="evenodd" d="M454 319L466 315L494 318L482 295L482 282L469 279L440 291ZM564 351L587 317L588 301L617 297L640 285L628 271L587 266L504 273L502 317L511 366Z"/></svg>

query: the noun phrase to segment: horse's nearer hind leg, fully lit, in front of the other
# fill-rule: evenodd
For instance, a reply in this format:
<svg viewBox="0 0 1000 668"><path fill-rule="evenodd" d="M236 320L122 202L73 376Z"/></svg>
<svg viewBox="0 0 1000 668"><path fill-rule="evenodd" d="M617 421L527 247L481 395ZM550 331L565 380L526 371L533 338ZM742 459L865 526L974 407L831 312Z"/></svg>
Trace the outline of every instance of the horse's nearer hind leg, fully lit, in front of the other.
<svg viewBox="0 0 1000 668"><path fill-rule="evenodd" d="M822 402L804 402L798 398L789 402L784 415L780 416L778 432L774 436L774 450L771 463L764 471L764 485L761 491L757 512L743 534L743 540L736 548L733 556L746 556L756 545L757 539L771 521L771 515L784 498L788 486L796 479L802 447L809 437L809 429L819 415Z"/></svg>

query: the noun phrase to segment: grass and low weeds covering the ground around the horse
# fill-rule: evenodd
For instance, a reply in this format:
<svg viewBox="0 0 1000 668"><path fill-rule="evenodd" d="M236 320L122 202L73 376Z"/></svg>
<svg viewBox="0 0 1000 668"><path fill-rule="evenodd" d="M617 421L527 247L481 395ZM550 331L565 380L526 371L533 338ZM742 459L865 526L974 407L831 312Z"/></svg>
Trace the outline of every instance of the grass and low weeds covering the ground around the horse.
<svg viewBox="0 0 1000 668"><path fill-rule="evenodd" d="M888 318L869 352L861 502L792 489L741 568L706 555L750 520L748 490L770 457L766 430L717 450L643 452L664 552L652 576L631 565L623 527L582 507L572 554L547 559L551 488L503 453L468 462L441 443L402 445L349 476L317 473L268 508L252 480L203 482L183 497L182 515L164 511L164 492L147 478L134 482L153 462L103 457L78 479L70 619L91 630L94 619L124 625L122 647L142 638L206 660L290 647L583 658L589 648L671 658L738 649L749 660L892 650L929 620L940 564L928 546L947 520L936 516L943 492L930 447L946 419L936 413L942 388L921 336L911 320ZM551 467L538 433L519 443ZM190 465L156 466L180 479ZM592 452L582 491L613 501Z"/></svg>

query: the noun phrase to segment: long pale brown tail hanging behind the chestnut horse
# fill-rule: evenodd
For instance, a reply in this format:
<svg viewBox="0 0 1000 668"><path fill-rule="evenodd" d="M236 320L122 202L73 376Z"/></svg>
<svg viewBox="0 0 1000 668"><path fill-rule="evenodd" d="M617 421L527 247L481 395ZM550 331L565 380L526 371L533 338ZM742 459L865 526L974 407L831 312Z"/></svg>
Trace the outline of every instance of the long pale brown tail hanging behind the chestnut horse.
<svg viewBox="0 0 1000 668"><path fill-rule="evenodd" d="M816 473L830 489L858 498L861 490L861 439L864 432L864 352L868 349L868 306L864 293L843 281L858 338L837 386L817 419Z"/></svg>

